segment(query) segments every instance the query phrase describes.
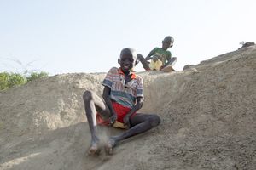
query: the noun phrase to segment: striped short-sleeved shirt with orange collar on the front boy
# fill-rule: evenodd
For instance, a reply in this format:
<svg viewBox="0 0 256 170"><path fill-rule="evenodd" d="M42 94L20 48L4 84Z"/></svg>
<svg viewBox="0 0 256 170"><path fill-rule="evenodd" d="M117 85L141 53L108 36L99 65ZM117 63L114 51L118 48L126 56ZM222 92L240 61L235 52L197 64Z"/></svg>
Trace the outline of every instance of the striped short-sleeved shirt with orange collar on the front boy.
<svg viewBox="0 0 256 170"><path fill-rule="evenodd" d="M125 84L125 74L116 67L108 71L102 85L111 88L110 99L129 108L134 107L137 97L143 97L143 78L131 73L131 81Z"/></svg>

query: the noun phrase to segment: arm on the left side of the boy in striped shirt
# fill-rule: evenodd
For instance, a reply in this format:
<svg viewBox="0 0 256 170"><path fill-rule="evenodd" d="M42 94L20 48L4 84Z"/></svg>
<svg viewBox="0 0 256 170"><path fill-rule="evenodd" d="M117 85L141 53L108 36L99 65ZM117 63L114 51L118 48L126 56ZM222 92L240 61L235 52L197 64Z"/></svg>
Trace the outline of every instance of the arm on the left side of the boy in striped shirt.
<svg viewBox="0 0 256 170"><path fill-rule="evenodd" d="M113 123L117 119L117 114L113 110L112 101L110 99L110 91L111 91L111 88L109 88L108 86L105 86L104 89L103 89L102 97L103 97L106 105L108 106L109 111L112 113L112 116L110 117L110 124L113 125Z"/></svg>

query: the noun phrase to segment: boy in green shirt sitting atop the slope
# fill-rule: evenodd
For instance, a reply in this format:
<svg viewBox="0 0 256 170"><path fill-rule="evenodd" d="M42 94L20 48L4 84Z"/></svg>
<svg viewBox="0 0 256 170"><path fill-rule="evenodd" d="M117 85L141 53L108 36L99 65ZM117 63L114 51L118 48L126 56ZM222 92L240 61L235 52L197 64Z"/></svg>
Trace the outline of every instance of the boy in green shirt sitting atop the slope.
<svg viewBox="0 0 256 170"><path fill-rule="evenodd" d="M171 68L172 65L177 61L176 57L172 58L172 54L168 51L168 48L172 48L174 39L171 36L167 36L162 41L161 48L154 48L146 58L143 57L142 54L137 54L137 61L141 62L143 68L146 71L160 71L166 68L167 66ZM151 59L149 63L148 60Z"/></svg>

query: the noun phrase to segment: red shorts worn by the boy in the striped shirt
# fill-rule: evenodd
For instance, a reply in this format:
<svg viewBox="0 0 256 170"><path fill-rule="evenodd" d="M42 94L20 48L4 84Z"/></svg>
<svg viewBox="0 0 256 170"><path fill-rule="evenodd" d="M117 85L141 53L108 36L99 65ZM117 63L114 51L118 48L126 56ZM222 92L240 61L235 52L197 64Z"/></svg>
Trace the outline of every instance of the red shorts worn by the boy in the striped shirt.
<svg viewBox="0 0 256 170"><path fill-rule="evenodd" d="M124 117L125 115L131 111L131 108L129 107L125 107L124 105L120 105L114 101L112 101L112 105L113 105L113 110L116 112L117 114L117 121L118 122L122 122L124 123ZM132 113L131 116L134 116L136 114L136 112ZM97 124L102 124L102 125L109 125L110 124L110 120L103 120L102 116L100 114L97 113L96 115L96 121Z"/></svg>

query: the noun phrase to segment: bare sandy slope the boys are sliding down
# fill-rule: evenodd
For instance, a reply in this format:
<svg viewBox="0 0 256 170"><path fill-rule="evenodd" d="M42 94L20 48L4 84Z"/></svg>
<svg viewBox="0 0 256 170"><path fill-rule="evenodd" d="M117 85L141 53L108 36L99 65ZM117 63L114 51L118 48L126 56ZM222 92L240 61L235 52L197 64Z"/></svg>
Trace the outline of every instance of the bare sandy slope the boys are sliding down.
<svg viewBox="0 0 256 170"><path fill-rule="evenodd" d="M138 73L142 112L160 126L86 156L82 94L104 74L65 74L0 92L0 169L255 169L256 47L220 55L195 71ZM102 140L118 129L102 129Z"/></svg>

